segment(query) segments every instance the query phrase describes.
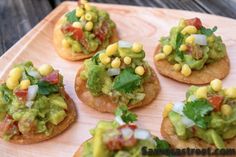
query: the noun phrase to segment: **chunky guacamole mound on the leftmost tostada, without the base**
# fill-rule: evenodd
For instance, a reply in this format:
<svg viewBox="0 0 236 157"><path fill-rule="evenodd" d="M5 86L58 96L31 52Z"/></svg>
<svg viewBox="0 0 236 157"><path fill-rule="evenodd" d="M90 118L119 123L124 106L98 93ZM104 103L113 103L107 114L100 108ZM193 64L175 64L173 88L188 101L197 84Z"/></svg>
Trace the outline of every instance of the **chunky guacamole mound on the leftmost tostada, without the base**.
<svg viewBox="0 0 236 157"><path fill-rule="evenodd" d="M8 80L0 85L2 137L9 140L14 135L50 135L52 126L60 124L67 116L67 104L60 92L64 89L62 76L54 69L42 76L31 62L16 65L14 69L20 69L16 80L19 84L14 89L8 88L11 87ZM16 74L10 72L8 79L11 77L16 78ZM22 89L24 80L29 80L30 84ZM34 96L33 88L36 89Z"/></svg>

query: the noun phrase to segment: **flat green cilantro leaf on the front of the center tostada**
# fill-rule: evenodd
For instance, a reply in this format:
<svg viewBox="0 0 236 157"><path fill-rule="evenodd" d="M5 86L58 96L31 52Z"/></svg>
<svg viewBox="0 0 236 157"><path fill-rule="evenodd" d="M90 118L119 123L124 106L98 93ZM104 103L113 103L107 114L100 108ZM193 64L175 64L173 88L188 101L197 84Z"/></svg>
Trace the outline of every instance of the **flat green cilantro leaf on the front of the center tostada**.
<svg viewBox="0 0 236 157"><path fill-rule="evenodd" d="M141 77L134 74L132 69L127 68L115 78L113 82L113 89L124 93L130 93L140 87L140 85Z"/></svg>

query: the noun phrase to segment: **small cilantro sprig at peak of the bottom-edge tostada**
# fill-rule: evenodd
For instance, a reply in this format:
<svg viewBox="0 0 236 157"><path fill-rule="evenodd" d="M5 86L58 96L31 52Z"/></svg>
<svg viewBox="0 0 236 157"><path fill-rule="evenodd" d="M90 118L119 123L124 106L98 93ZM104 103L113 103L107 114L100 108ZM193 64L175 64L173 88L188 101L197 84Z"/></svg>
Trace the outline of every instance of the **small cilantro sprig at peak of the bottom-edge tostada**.
<svg viewBox="0 0 236 157"><path fill-rule="evenodd" d="M132 122L137 121L137 115L135 113L130 112L126 105L120 105L116 109L115 115L121 117L121 119L127 124L129 122L132 123Z"/></svg>

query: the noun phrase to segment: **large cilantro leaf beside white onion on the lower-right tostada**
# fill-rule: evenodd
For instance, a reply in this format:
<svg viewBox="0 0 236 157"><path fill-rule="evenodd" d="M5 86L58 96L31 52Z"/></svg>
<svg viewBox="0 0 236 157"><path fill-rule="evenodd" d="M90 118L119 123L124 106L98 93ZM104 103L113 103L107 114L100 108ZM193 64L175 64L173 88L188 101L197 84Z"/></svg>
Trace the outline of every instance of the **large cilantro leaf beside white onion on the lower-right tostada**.
<svg viewBox="0 0 236 157"><path fill-rule="evenodd" d="M206 99L197 99L195 101L187 102L184 106L183 113L197 126L201 128L207 127L206 115L213 110L212 105Z"/></svg>

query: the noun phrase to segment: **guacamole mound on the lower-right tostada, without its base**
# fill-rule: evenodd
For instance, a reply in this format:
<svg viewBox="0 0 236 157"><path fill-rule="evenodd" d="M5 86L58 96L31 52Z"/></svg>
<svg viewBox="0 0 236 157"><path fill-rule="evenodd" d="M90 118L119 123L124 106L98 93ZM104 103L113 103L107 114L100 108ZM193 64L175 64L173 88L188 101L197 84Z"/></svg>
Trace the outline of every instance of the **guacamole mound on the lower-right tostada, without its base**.
<svg viewBox="0 0 236 157"><path fill-rule="evenodd" d="M168 114L180 139L199 138L225 148L225 142L236 137L236 88L191 86L183 104L182 112L174 104Z"/></svg>

